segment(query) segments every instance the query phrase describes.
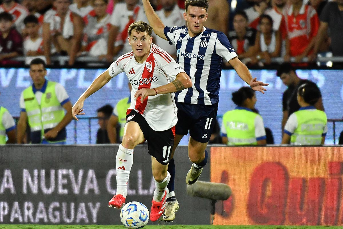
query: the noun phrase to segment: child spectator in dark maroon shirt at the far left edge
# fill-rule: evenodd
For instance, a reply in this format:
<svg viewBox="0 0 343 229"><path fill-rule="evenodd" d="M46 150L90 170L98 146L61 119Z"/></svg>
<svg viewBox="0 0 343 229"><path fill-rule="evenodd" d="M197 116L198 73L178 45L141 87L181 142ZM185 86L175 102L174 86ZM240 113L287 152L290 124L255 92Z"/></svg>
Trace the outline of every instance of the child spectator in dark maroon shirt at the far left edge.
<svg viewBox="0 0 343 229"><path fill-rule="evenodd" d="M0 13L0 66L20 64L11 58L23 54L23 39L12 25L12 15L8 12Z"/></svg>

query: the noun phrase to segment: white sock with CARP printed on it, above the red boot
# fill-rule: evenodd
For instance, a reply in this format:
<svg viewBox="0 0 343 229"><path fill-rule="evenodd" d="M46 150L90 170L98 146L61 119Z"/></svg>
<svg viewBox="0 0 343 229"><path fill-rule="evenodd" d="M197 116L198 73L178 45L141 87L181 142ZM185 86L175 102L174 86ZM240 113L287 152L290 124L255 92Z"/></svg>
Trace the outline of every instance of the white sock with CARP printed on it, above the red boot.
<svg viewBox="0 0 343 229"><path fill-rule="evenodd" d="M128 194L127 186L130 176L130 171L133 163L133 149L127 149L121 144L116 156L117 168L117 193L124 197Z"/></svg>

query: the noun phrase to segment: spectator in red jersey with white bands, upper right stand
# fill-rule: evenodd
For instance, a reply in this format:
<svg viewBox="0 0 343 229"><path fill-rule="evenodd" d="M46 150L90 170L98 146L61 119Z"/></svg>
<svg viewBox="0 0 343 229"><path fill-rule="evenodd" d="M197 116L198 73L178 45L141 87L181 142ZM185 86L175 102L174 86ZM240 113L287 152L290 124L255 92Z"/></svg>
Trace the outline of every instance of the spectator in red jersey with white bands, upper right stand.
<svg viewBox="0 0 343 229"><path fill-rule="evenodd" d="M318 33L319 18L315 9L303 0L290 0L292 3L285 11L287 29L285 61L295 57L296 62L312 53Z"/></svg>

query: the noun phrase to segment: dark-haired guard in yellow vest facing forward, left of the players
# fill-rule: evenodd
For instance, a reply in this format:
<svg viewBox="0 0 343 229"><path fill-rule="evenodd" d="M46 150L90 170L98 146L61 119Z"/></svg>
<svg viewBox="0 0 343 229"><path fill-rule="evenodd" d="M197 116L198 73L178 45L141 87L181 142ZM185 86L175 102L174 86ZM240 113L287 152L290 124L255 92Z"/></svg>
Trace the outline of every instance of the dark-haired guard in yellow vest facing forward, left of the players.
<svg viewBox="0 0 343 229"><path fill-rule="evenodd" d="M32 144L66 144L66 126L72 119L72 106L66 89L57 82L45 79L45 67L45 62L39 58L30 63L33 84L20 97L18 144L23 142L27 121Z"/></svg>

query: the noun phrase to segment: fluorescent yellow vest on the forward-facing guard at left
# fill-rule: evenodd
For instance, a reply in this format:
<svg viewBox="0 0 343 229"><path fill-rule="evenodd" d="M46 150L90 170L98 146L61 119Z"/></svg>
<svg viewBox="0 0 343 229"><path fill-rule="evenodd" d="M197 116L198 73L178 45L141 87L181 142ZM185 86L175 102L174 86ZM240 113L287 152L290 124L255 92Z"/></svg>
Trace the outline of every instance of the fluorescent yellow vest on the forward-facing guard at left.
<svg viewBox="0 0 343 229"><path fill-rule="evenodd" d="M32 86L23 92L31 132L40 131L42 137L44 136L44 130L54 128L64 117L64 110L57 99L55 86L56 82L47 82L40 105L33 93Z"/></svg>

